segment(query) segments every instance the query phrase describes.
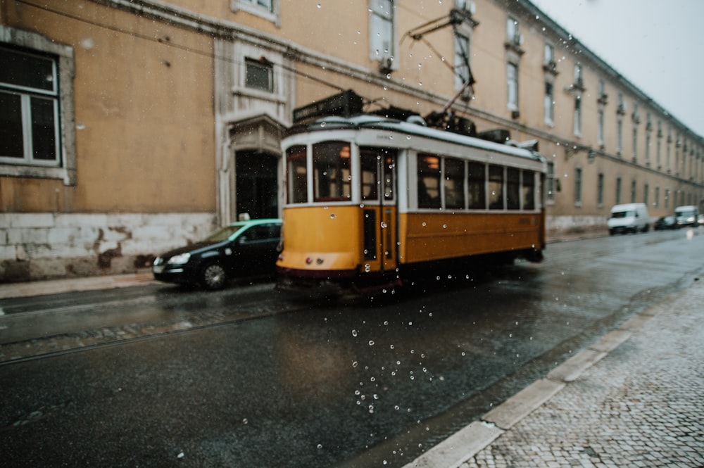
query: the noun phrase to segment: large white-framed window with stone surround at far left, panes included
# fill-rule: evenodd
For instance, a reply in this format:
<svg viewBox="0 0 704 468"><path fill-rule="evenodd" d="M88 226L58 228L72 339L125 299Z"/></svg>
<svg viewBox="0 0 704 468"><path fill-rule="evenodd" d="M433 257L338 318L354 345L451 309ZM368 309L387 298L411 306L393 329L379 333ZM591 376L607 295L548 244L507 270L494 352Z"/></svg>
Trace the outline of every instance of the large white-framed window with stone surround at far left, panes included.
<svg viewBox="0 0 704 468"><path fill-rule="evenodd" d="M75 184L73 49L4 26L0 37L0 175Z"/></svg>

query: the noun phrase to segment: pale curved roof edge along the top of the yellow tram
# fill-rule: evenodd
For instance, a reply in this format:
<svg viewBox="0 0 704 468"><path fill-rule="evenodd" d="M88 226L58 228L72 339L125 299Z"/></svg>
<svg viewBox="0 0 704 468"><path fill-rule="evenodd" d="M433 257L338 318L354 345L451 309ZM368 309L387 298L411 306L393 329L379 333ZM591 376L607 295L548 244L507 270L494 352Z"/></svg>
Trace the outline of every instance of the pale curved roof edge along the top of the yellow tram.
<svg viewBox="0 0 704 468"><path fill-rule="evenodd" d="M446 141L450 143L460 144L463 146L472 146L488 151L498 151L501 153L513 154L514 156L522 156L534 160L544 160L543 156L537 151L529 148L516 146L515 144L501 144L496 141L489 141L477 137L448 132L446 130L427 127L425 121L415 115L409 118L409 121L386 118L381 115L374 114L358 114L349 117L341 117L339 115L329 115L327 117L317 118L313 121L294 125L287 136L308 133L308 132L331 132L334 130L387 130L389 132L398 132L401 134L414 135L417 137L425 137L438 141Z"/></svg>

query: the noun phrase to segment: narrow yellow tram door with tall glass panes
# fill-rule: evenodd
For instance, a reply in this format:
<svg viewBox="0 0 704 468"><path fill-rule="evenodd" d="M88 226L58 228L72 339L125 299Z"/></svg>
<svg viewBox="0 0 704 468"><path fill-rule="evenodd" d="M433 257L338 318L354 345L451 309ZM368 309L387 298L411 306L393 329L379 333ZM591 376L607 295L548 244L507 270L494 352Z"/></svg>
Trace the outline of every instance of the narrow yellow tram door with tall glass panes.
<svg viewBox="0 0 704 468"><path fill-rule="evenodd" d="M396 269L396 153L360 148L364 260L368 272Z"/></svg>

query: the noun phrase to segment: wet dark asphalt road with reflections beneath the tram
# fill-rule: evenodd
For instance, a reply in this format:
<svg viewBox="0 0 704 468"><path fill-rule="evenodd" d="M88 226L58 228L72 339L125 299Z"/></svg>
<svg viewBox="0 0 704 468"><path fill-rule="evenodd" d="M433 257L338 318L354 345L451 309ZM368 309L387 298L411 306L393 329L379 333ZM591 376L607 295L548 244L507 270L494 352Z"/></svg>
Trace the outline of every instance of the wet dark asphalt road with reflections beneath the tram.
<svg viewBox="0 0 704 468"><path fill-rule="evenodd" d="M570 241L539 265L445 274L371 304L291 301L268 283L4 302L1 323L25 337L203 326L1 365L0 460L400 467L691 282L702 252L700 232Z"/></svg>

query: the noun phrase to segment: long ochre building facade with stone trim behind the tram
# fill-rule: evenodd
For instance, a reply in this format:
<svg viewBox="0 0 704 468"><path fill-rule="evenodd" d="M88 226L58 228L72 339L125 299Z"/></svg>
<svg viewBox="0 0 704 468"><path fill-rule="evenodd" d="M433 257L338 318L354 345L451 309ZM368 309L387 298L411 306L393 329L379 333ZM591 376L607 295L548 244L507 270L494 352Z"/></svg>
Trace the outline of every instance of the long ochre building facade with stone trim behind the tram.
<svg viewBox="0 0 704 468"><path fill-rule="evenodd" d="M548 236L704 199L704 141L527 0L0 0L0 281L280 214L294 108L450 110L548 159Z"/></svg>

